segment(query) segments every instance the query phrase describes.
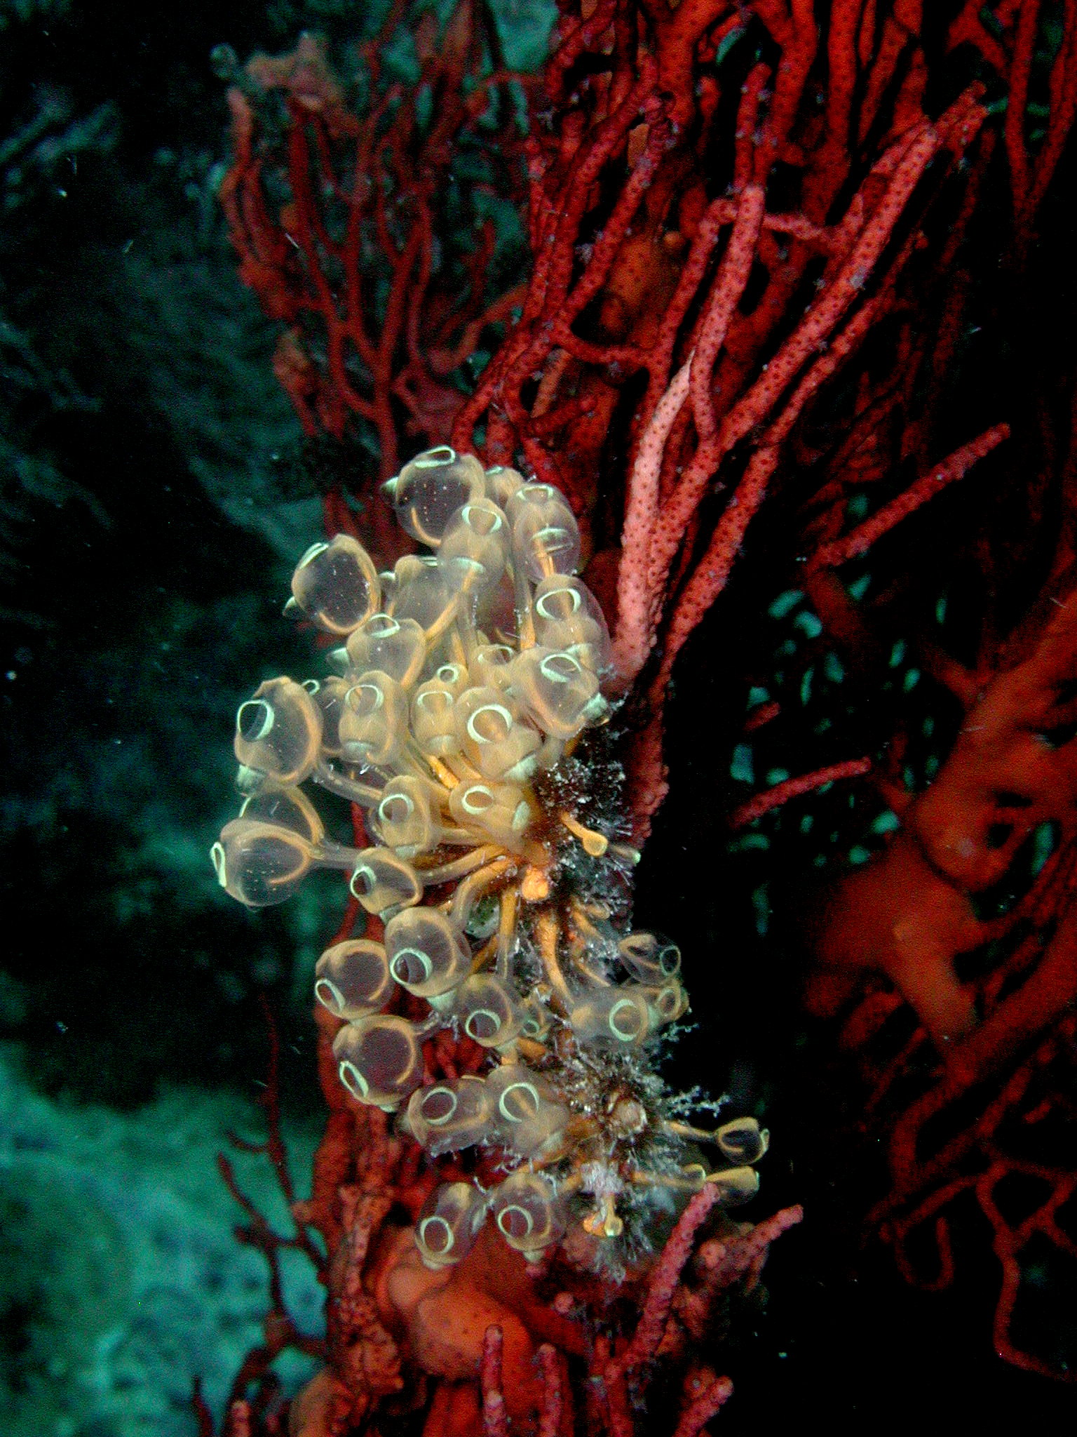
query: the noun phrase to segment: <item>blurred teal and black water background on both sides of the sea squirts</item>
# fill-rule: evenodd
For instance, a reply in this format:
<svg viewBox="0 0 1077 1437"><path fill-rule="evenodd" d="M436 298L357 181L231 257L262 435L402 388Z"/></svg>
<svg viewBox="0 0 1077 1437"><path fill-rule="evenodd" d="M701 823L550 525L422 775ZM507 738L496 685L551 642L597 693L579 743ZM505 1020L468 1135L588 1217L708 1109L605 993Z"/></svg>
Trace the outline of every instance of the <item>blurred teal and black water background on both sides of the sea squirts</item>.
<svg viewBox="0 0 1077 1437"><path fill-rule="evenodd" d="M513 62L536 65L551 6L493 10ZM236 806L237 703L260 678L317 668L280 611L345 458L303 444L270 368L276 329L236 279L210 56L284 50L304 27L340 30L359 13L329 0L0 0L0 1430L11 1437L192 1434L195 1378L220 1408L266 1311L264 1270L233 1239L214 1161L230 1129L260 1131L263 1000L281 1036L300 1191L322 1124L309 987L342 885L327 877L250 914L220 894L208 849ZM796 627L791 605L771 612ZM715 795L747 762L734 756L731 770L712 741L734 641L717 621L694 641L671 710L672 799L639 890L640 921L685 950L695 1004L673 1079L760 1111L774 1134L760 1204L807 1209L775 1250L770 1306L729 1354L737 1397L719 1430L777 1430L807 1411L833 1433L912 1420L987 1433L1032 1414L1071 1430L1073 1390L991 1354L994 1275L915 1293L885 1255L857 1249L859 1197L820 1137L836 1099L806 1083L796 956L768 931L767 859L721 859ZM238 1165L258 1206L279 1211L269 1164ZM289 1282L316 1332L313 1276L297 1265Z"/></svg>

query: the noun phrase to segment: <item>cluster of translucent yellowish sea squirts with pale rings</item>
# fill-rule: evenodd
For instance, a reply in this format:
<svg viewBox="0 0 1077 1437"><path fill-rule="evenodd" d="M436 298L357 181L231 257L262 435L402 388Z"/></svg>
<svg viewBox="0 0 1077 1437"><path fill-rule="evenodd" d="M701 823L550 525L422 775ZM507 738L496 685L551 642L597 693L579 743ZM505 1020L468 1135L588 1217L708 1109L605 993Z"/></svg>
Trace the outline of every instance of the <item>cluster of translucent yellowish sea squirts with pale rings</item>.
<svg viewBox="0 0 1077 1437"><path fill-rule="evenodd" d="M386 490L431 553L378 573L337 535L300 560L289 606L342 641L336 673L271 678L240 707L247 798L213 849L221 885L261 907L339 868L382 921L381 941L317 963L314 993L345 1020L340 1082L432 1158L501 1154L488 1187L432 1193L415 1226L426 1265L458 1262L487 1217L534 1259L566 1230L646 1242L635 1219L704 1183L747 1200L765 1131L675 1121L653 1072L653 1040L688 1009L681 954L619 930L603 901L603 874L616 892L635 855L589 826L596 783L573 753L609 717L610 641L569 504L448 447ZM362 808L368 848L326 836L306 782ZM487 1049L487 1071L432 1081L424 1043L442 1027ZM714 1170L686 1161L708 1145Z"/></svg>

